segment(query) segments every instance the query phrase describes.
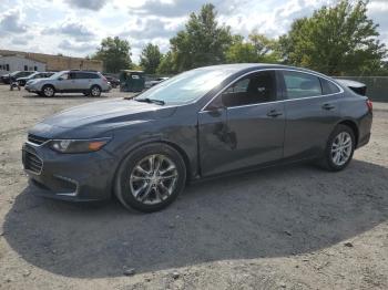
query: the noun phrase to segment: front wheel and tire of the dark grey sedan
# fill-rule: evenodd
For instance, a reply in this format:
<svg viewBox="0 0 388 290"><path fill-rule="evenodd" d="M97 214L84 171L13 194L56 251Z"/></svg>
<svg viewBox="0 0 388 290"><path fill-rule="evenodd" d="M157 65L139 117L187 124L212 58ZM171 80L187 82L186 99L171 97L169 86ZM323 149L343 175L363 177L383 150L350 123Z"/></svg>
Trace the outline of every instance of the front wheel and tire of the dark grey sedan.
<svg viewBox="0 0 388 290"><path fill-rule="evenodd" d="M185 183L182 156L174 148L155 143L142 146L122 160L114 193L124 207L153 213L173 203Z"/></svg>

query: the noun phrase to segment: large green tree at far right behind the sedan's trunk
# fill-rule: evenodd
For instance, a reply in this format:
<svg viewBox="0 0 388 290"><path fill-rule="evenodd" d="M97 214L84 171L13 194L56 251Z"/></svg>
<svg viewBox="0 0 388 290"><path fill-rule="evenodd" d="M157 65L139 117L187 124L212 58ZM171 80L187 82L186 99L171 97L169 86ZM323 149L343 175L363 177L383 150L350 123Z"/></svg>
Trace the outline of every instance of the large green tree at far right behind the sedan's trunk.
<svg viewBox="0 0 388 290"><path fill-rule="evenodd" d="M378 24L367 17L367 3L341 0L294 21L279 40L284 61L331 75L367 74L381 68L387 51L378 40Z"/></svg>

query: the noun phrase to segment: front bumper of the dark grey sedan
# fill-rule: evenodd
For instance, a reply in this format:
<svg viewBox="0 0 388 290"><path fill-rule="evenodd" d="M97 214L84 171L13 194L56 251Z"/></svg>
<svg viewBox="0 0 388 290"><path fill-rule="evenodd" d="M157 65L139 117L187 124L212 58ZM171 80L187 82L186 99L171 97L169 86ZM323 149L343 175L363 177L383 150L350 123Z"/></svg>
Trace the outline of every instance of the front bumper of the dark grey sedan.
<svg viewBox="0 0 388 290"><path fill-rule="evenodd" d="M35 195L69 201L111 197L115 159L103 149L60 154L44 144L28 142L22 148L22 160Z"/></svg>

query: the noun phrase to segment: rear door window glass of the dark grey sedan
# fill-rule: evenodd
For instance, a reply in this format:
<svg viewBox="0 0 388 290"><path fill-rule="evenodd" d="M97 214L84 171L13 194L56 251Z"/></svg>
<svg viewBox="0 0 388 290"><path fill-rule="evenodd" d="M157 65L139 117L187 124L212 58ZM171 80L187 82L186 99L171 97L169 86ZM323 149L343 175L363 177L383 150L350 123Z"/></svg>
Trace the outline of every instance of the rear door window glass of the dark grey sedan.
<svg viewBox="0 0 388 290"><path fill-rule="evenodd" d="M308 73L283 72L287 99L321 95L319 79Z"/></svg>

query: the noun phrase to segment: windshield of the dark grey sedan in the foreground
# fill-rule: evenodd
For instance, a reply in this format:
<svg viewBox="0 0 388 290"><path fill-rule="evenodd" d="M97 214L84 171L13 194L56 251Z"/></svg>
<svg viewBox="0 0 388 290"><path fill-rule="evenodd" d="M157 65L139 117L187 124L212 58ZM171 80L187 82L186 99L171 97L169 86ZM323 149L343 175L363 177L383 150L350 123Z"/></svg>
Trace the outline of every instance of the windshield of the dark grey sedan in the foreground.
<svg viewBox="0 0 388 290"><path fill-rule="evenodd" d="M234 72L236 71L219 68L187 71L153 86L134 100L151 99L166 104L190 103L205 95Z"/></svg>

